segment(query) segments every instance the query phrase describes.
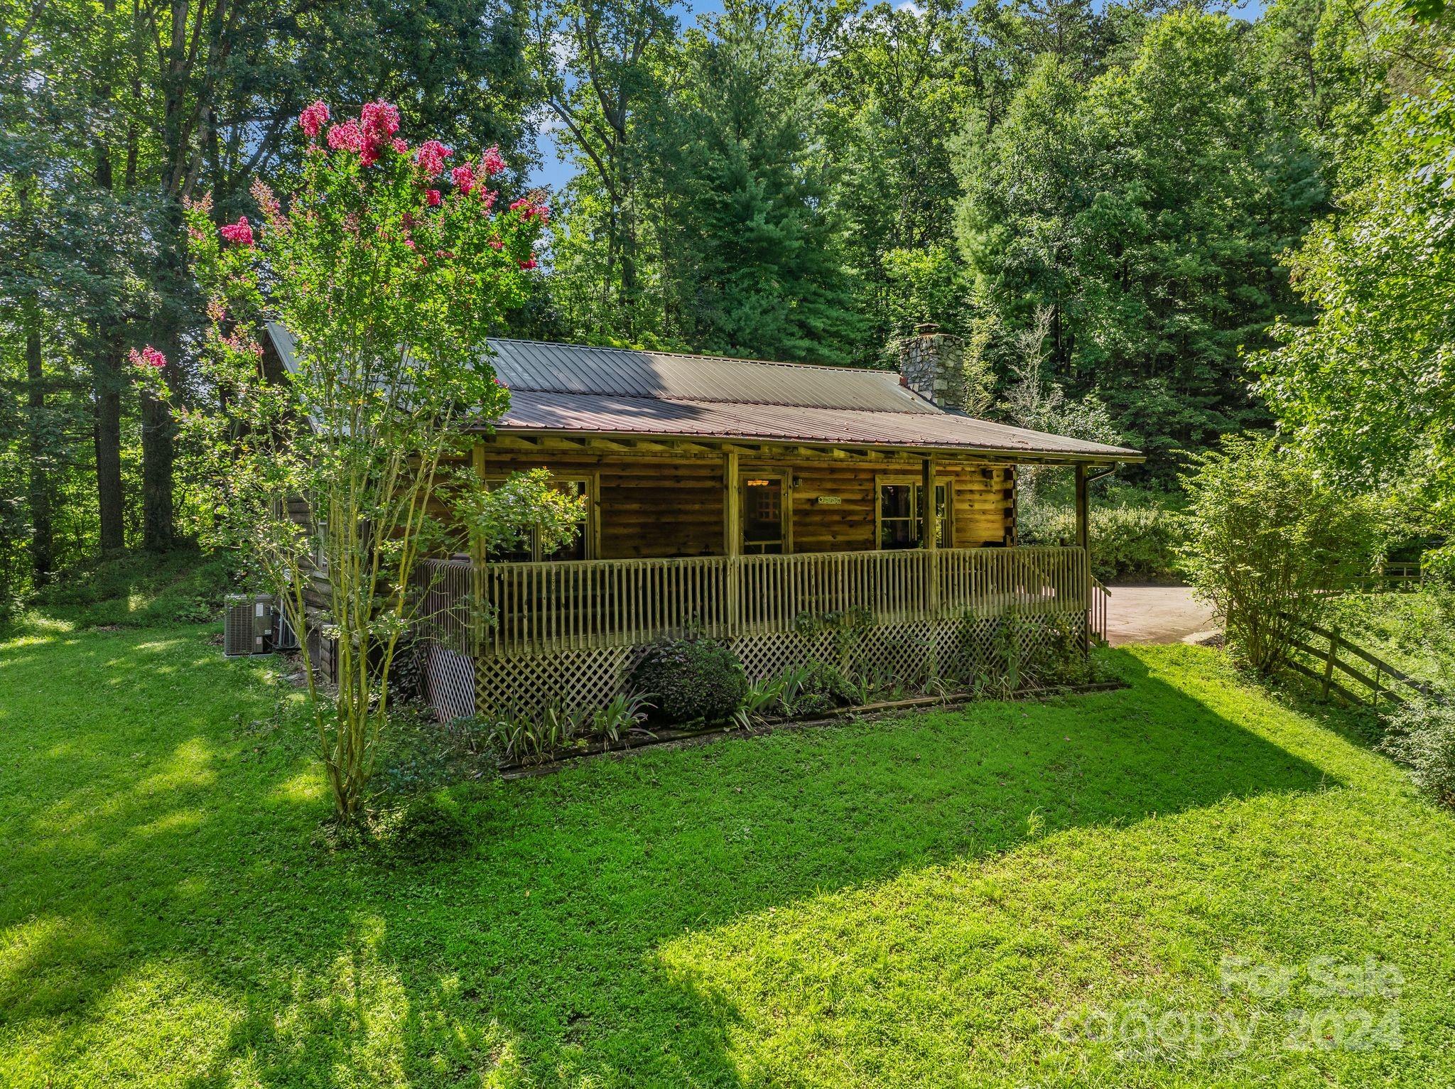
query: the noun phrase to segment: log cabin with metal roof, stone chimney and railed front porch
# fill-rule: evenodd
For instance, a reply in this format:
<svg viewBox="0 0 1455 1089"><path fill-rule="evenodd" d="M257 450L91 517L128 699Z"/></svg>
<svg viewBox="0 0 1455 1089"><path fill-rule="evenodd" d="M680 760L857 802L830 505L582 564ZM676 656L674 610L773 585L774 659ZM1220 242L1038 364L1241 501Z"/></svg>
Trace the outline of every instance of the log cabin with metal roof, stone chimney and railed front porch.
<svg viewBox="0 0 1455 1089"><path fill-rule="evenodd" d="M294 345L271 327L284 365ZM906 680L994 640L1008 612L1091 637L1087 484L1136 451L975 419L959 342L921 327L899 371L495 339L511 407L476 429L487 484L546 468L585 499L576 539L426 564L426 689L441 718L591 705L637 650L687 631L751 678L825 653L815 618L867 616ZM1016 473L1071 467L1077 535L1017 541ZM933 502L927 497L933 496ZM471 630L469 616L493 614Z"/></svg>

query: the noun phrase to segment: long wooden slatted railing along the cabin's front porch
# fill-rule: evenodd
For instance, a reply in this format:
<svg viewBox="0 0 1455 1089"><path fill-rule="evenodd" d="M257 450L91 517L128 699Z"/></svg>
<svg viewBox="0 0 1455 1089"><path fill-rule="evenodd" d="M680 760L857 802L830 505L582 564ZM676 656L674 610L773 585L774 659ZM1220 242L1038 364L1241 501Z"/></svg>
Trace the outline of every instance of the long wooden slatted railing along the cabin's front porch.
<svg viewBox="0 0 1455 1089"><path fill-rule="evenodd" d="M492 657L631 646L694 628L726 638L790 631L800 614L864 608L876 622L966 614L1085 614L1080 548L944 548L671 560L429 561L422 612ZM471 605L477 595L483 608ZM486 622L490 618L490 622Z"/></svg>

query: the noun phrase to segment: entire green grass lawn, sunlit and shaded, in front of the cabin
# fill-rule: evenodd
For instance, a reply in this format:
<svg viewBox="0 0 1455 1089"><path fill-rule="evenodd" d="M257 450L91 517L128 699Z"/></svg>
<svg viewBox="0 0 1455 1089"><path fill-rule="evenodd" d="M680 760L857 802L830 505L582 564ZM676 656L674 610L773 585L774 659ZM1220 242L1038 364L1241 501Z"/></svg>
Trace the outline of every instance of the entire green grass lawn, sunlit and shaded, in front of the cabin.
<svg viewBox="0 0 1455 1089"><path fill-rule="evenodd" d="M474 848L390 868L210 634L0 643L0 1085L1455 1080L1455 820L1213 651L460 788Z"/></svg>

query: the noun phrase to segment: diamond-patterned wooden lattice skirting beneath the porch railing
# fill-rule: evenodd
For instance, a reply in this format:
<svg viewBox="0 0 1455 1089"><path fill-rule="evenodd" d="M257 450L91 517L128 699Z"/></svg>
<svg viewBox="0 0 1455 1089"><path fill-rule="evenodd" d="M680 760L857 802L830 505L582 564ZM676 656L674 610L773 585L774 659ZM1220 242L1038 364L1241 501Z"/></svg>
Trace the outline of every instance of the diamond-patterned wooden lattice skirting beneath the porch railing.
<svg viewBox="0 0 1455 1089"><path fill-rule="evenodd" d="M741 635L728 640L754 680L806 662L851 659L857 673L917 685L930 676L1004 676L1014 662L1026 675L1046 656L1078 653L1085 618L1026 616L1014 630L998 618L920 621L870 628L847 646L834 632ZM441 721L476 714L531 711L550 702L605 704L620 692L640 647L601 647L549 656L471 662L439 644L426 654L425 689Z"/></svg>

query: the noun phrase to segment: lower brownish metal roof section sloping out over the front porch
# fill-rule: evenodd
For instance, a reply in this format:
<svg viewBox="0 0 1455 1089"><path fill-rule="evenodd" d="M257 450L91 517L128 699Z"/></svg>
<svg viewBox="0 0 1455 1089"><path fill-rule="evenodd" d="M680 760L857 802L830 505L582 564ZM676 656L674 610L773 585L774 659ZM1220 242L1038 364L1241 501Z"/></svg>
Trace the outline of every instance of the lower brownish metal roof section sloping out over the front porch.
<svg viewBox="0 0 1455 1089"><path fill-rule="evenodd" d="M517 390L502 430L741 438L835 445L985 449L1122 461L1136 451L976 420L742 403L668 401Z"/></svg>

